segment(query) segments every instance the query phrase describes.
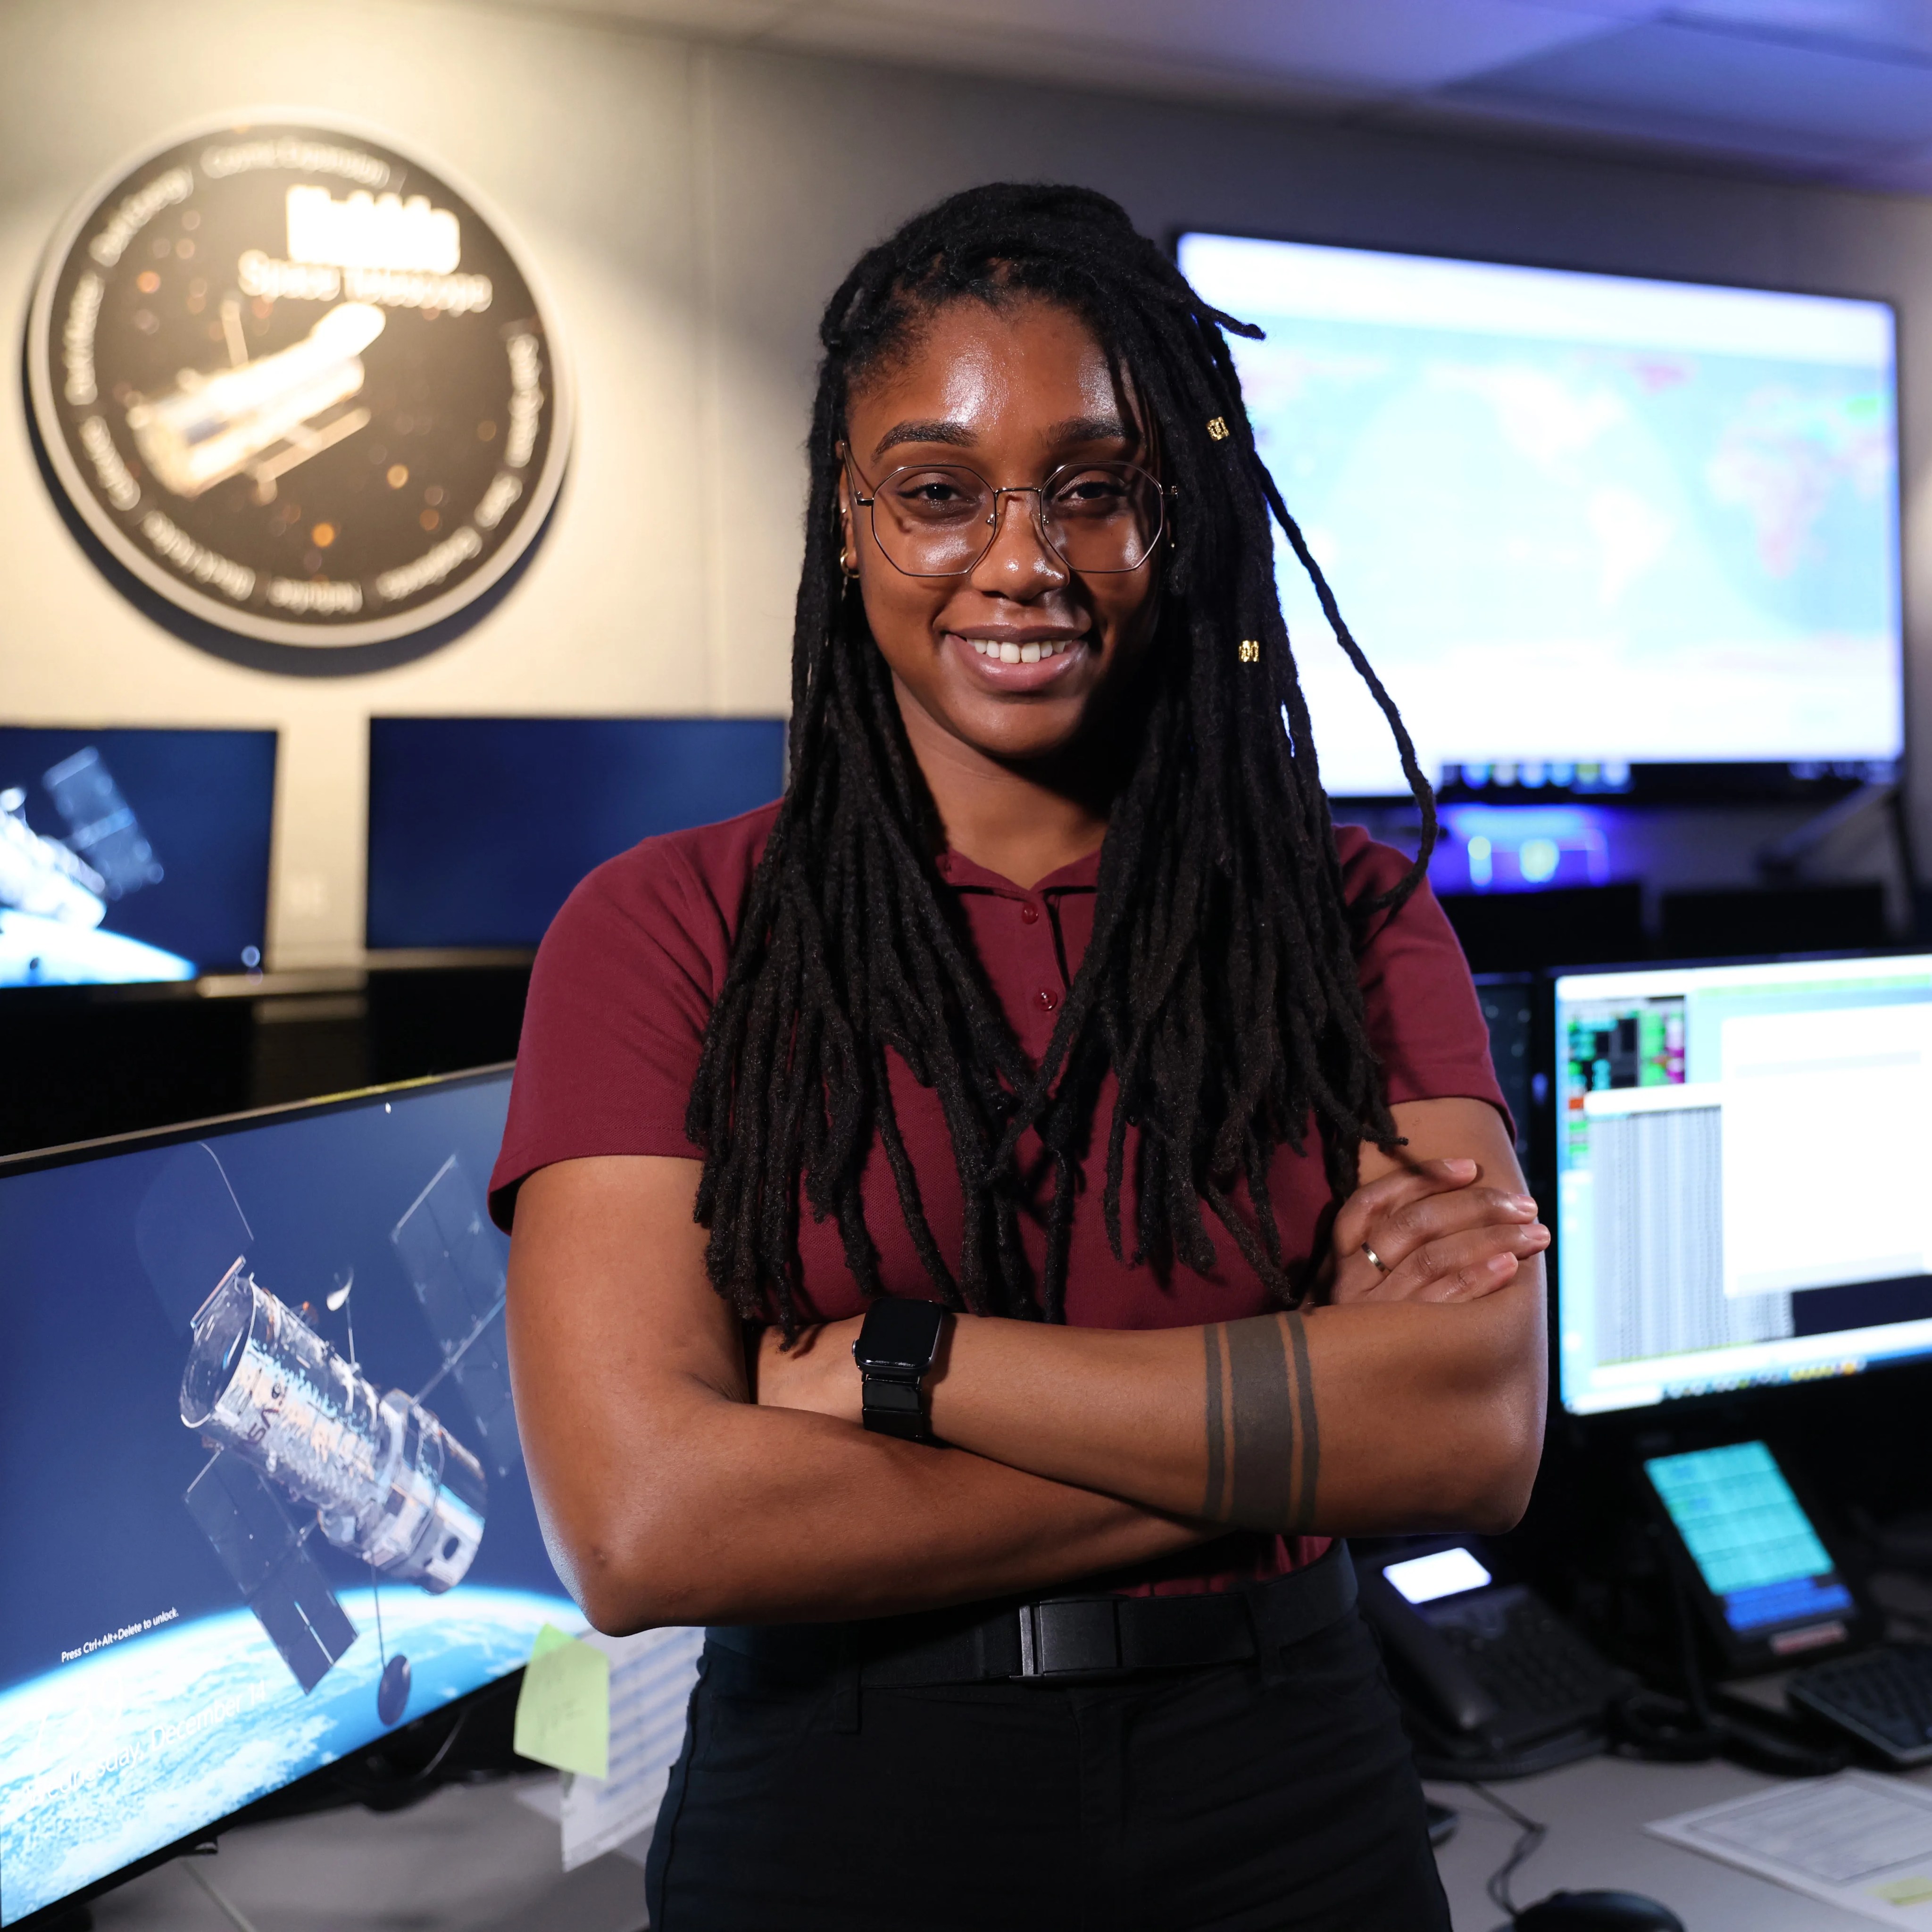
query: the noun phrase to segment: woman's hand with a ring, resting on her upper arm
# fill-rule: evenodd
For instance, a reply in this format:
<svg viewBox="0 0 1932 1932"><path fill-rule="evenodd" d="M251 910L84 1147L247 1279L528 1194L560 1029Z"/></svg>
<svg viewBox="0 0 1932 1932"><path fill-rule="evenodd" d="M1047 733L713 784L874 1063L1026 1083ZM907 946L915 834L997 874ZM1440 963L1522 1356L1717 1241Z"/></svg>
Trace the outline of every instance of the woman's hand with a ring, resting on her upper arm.
<svg viewBox="0 0 1932 1932"><path fill-rule="evenodd" d="M1468 1302L1505 1287L1548 1246L1528 1194L1482 1184L1476 1161L1416 1161L1343 1202L1327 1298Z"/></svg>

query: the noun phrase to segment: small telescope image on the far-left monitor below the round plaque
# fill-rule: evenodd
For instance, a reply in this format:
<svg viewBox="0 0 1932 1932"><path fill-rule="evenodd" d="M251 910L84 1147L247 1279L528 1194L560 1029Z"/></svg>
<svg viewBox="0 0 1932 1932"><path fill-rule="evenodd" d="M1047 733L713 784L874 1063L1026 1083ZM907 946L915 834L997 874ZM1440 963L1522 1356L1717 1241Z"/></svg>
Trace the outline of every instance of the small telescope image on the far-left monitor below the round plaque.
<svg viewBox="0 0 1932 1932"><path fill-rule="evenodd" d="M274 744L0 724L0 985L259 966Z"/></svg>

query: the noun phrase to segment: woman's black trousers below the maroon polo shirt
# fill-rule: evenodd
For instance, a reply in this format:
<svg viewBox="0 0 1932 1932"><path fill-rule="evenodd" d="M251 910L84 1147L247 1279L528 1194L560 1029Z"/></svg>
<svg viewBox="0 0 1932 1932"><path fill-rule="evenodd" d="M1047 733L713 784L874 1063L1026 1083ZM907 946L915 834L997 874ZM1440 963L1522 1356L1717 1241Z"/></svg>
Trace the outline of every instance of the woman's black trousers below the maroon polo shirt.
<svg viewBox="0 0 1932 1932"><path fill-rule="evenodd" d="M1084 1685L856 1694L707 1644L647 1897L653 1932L1449 1928L1352 1609L1265 1665Z"/></svg>

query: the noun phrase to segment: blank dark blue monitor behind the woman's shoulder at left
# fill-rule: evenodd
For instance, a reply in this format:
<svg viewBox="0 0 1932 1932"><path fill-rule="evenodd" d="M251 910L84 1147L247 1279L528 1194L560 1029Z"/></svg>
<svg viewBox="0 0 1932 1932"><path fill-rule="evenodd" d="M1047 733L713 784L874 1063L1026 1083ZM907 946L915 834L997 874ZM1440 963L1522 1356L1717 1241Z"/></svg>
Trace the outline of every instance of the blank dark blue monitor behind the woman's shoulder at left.
<svg viewBox="0 0 1932 1932"><path fill-rule="evenodd" d="M782 719L371 719L367 941L533 947L607 858L782 790Z"/></svg>

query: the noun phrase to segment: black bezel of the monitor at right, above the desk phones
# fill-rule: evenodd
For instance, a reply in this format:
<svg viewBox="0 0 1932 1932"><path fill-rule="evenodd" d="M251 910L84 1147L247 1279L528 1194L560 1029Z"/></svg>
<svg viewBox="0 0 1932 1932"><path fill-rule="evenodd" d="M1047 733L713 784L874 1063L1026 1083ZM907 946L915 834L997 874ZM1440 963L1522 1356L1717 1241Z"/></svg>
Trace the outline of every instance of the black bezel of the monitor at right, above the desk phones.
<svg viewBox="0 0 1932 1932"><path fill-rule="evenodd" d="M1839 1381L1862 1381L1866 1376L1884 1374L1888 1370L1932 1372L1932 1349L1928 1349L1924 1354L1888 1356L1882 1362L1868 1362L1855 1376L1768 1381L1743 1389L1710 1389L1702 1395L1665 1395L1656 1403L1631 1403L1621 1408L1577 1410L1563 1399L1563 1213L1557 1200L1557 1186L1561 1180L1557 1155L1563 1124L1563 1094L1557 1082L1557 981L1582 974L1629 976L1640 972L1698 972L1702 968L1725 966L1830 966L1841 960L1886 958L1922 958L1928 966L1932 966L1932 943L1917 941L1895 947L1857 947L1832 952L1739 952L1725 958L1625 960L1611 966L1546 966L1538 972L1540 999L1534 1024L1540 1051L1546 1055L1544 1070L1548 1074L1544 1105L1538 1111L1538 1148L1542 1173L1548 1177L1549 1188L1549 1246L1544 1260L1548 1294L1548 1320L1544 1325L1548 1329L1546 1341L1549 1360L1549 1428L1561 1428L1571 1439L1602 1439L1609 1435L1634 1437L1646 1434L1662 1437L1681 1428L1704 1430L1710 1426L1712 1418L1731 1412L1737 1414L1731 1414L1731 1420L1725 1422L1725 1426L1745 1426L1747 1420L1760 1416L1766 1410L1772 1410L1772 1414L1764 1426L1776 1428L1785 1418L1785 1410L1793 1403L1806 1399L1804 1391L1832 1387Z"/></svg>

